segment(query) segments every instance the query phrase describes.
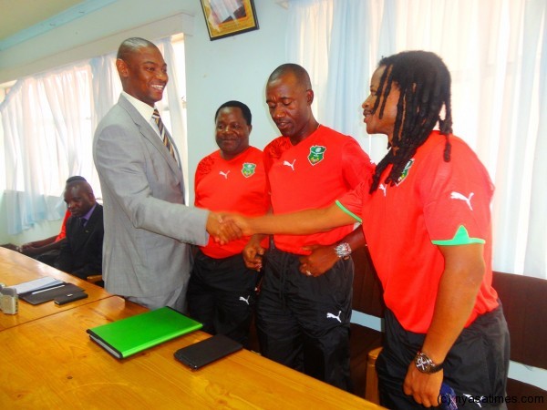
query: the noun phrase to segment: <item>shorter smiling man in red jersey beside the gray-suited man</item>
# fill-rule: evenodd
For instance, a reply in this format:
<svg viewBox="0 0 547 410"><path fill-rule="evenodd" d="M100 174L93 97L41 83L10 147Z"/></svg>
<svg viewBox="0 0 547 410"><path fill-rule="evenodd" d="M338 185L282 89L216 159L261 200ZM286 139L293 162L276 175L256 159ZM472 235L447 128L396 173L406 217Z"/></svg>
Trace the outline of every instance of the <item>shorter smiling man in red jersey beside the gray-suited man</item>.
<svg viewBox="0 0 547 410"><path fill-rule="evenodd" d="M249 146L253 129L251 110L240 101L228 101L215 113L219 149L198 164L195 206L244 215L268 210L263 152ZM258 272L249 269L242 251L249 237L221 245L212 239L201 246L188 285L191 316L203 331L222 333L247 345L255 302ZM264 244L265 245L265 244Z"/></svg>

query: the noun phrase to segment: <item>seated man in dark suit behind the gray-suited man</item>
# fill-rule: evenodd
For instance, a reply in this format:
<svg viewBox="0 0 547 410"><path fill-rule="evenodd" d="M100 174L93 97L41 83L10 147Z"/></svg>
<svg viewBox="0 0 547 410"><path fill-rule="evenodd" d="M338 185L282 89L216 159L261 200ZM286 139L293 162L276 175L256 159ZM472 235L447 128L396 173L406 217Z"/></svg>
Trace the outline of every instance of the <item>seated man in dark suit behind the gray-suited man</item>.
<svg viewBox="0 0 547 410"><path fill-rule="evenodd" d="M67 240L61 245L56 268L82 279L102 274L102 205L83 180L67 184L65 202L71 216L67 220Z"/></svg>

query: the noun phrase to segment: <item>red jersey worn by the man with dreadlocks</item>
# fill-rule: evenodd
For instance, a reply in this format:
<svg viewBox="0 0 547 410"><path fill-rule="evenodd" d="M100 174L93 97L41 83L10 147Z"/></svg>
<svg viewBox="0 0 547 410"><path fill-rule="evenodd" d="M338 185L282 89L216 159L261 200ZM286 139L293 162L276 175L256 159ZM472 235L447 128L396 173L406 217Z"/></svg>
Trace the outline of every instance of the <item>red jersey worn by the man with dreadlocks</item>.
<svg viewBox="0 0 547 410"><path fill-rule="evenodd" d="M416 333L428 332L444 271L437 245L484 243L486 273L466 326L498 306L491 287L493 185L480 159L457 137L449 139L450 161L445 162L445 140L434 131L396 185L383 183L387 167L372 195L362 184L338 201L362 218L386 305L405 329Z"/></svg>

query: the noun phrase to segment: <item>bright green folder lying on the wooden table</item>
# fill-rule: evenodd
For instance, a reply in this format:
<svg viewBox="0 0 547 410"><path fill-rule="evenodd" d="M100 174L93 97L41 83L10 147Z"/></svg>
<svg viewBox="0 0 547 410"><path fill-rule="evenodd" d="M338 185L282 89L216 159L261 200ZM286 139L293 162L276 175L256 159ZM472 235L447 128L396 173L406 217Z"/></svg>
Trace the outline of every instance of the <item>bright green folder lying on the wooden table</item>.
<svg viewBox="0 0 547 410"><path fill-rule="evenodd" d="M93 327L87 332L89 338L109 354L125 359L182 334L194 332L202 326L170 307L162 307Z"/></svg>

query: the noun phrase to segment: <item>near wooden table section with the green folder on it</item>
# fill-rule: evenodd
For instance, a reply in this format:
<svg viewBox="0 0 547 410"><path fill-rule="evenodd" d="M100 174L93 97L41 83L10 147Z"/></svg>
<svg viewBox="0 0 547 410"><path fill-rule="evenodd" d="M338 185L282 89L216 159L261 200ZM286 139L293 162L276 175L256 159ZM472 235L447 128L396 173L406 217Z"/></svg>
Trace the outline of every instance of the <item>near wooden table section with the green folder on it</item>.
<svg viewBox="0 0 547 410"><path fill-rule="evenodd" d="M0 332L2 408L380 408L247 350L192 371L173 354L200 331L118 360L86 330L147 310L112 295L68 306Z"/></svg>

